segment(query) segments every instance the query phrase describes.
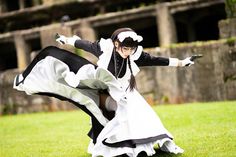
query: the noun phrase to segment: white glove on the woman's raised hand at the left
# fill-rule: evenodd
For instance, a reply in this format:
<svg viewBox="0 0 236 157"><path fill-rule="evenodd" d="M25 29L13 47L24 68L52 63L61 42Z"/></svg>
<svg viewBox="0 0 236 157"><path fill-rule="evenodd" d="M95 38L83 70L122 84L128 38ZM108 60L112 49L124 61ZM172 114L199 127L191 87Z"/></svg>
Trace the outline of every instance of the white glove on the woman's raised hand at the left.
<svg viewBox="0 0 236 157"><path fill-rule="evenodd" d="M80 40L81 38L73 35L72 37L66 37L64 35L56 34L55 36L56 41L59 42L61 45L68 44L68 45L75 45L76 40Z"/></svg>

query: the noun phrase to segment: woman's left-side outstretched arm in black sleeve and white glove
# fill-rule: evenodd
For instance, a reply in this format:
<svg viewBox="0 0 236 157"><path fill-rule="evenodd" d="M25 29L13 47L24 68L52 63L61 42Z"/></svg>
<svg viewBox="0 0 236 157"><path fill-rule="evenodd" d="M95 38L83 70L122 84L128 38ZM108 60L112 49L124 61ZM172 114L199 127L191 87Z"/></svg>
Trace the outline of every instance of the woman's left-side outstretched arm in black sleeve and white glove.
<svg viewBox="0 0 236 157"><path fill-rule="evenodd" d="M90 42L88 40L82 40L80 37L74 35L72 37L66 37L64 35L56 34L56 41L60 44L68 44L79 49L83 49L87 52L94 54L96 57L99 57L102 52L98 42Z"/></svg>

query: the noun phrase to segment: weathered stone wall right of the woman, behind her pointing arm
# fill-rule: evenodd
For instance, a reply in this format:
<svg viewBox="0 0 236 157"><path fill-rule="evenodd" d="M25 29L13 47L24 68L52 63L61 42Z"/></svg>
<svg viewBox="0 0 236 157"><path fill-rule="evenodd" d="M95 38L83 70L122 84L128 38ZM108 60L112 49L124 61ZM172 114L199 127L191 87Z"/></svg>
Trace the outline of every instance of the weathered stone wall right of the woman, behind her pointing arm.
<svg viewBox="0 0 236 157"><path fill-rule="evenodd" d="M191 67L144 68L137 80L140 92L149 101L185 103L236 99L236 38L149 51L180 59L198 53L204 56Z"/></svg>

